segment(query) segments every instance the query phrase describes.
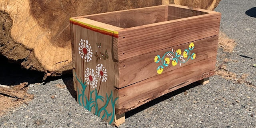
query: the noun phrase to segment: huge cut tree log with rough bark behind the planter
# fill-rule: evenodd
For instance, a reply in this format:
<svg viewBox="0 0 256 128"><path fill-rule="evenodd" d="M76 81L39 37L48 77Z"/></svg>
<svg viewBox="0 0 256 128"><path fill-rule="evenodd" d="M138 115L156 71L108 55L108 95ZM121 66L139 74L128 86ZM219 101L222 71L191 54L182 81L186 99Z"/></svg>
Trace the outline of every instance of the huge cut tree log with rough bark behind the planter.
<svg viewBox="0 0 256 128"><path fill-rule="evenodd" d="M219 1L2 0L0 54L45 76L59 76L72 69L70 17L169 3L212 10Z"/></svg>

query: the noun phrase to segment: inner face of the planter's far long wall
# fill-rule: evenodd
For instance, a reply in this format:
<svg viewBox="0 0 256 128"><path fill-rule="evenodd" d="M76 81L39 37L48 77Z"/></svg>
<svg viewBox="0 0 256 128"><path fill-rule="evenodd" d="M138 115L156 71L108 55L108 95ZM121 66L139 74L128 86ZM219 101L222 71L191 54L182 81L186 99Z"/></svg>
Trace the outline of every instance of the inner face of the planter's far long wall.
<svg viewBox="0 0 256 128"><path fill-rule="evenodd" d="M120 28L130 28L165 21L165 14L168 13L168 11L165 10L166 7L167 5L108 12L89 15L86 16L86 18Z"/></svg>

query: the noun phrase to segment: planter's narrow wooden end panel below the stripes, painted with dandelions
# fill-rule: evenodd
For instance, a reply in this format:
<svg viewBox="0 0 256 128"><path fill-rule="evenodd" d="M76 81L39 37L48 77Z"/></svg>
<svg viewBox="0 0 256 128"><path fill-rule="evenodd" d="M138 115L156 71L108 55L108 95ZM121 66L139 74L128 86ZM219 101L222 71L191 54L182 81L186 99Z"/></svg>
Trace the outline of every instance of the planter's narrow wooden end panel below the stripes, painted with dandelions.
<svg viewBox="0 0 256 128"><path fill-rule="evenodd" d="M114 44L114 39L112 36L95 32L75 24L72 24L72 28L73 32L71 33L74 35L73 49L75 54L73 59L75 60L76 67L73 75L74 78L76 78L77 102L103 120L114 124L114 101L117 98L114 84L119 75L116 74L116 72L118 72L117 62L113 61L114 51L112 51L112 44ZM87 44L87 40L88 46L82 46L80 42L81 39L82 43L85 43L85 45ZM97 45L99 43L101 44L100 46ZM106 50L107 53L105 52ZM80 56L81 53L92 54L92 56L89 56L89 59L86 57L82 58ZM104 60L101 53L104 54L104 56L107 54L108 58ZM102 64L102 68L98 68L100 64ZM99 69L103 69L102 72L100 72ZM92 74L92 72L94 73ZM86 83L81 84L80 82ZM100 97L96 98L97 96L102 96L102 100L100 100ZM92 98L94 102L86 102L86 100L90 98ZM90 105L87 106L88 104ZM107 114L110 114L110 116L108 117Z"/></svg>

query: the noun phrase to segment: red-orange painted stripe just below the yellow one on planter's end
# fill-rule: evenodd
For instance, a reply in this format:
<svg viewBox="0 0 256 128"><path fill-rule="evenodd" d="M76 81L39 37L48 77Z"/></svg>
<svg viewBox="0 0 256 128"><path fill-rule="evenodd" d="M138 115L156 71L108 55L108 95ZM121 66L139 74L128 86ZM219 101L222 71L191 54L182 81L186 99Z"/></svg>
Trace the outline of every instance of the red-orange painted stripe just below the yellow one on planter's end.
<svg viewBox="0 0 256 128"><path fill-rule="evenodd" d="M94 32L99 32L101 34L105 34L105 35L108 35L108 36L113 36L115 38L118 38L118 34L115 34L115 33L112 33L112 32L107 32L105 30L100 30L100 29L97 29L97 28L92 28L90 26L87 26L85 24L81 24L81 23L78 23L78 22L75 22L75 21L72 21L72 20L70 20L70 23L74 24L74 25L81 26L82 28L86 28L86 29L92 30Z"/></svg>

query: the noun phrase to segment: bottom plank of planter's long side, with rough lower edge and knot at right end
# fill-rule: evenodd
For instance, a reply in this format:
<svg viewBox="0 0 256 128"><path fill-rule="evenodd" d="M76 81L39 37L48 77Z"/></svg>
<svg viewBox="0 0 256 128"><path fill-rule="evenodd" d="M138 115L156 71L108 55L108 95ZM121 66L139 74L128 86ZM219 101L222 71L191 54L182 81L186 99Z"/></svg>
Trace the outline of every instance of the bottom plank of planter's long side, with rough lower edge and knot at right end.
<svg viewBox="0 0 256 128"><path fill-rule="evenodd" d="M205 78L213 76L215 63L216 56L213 56L119 89L119 101L116 113L122 114L137 108L168 92L172 92L192 82L202 80L202 76Z"/></svg>

